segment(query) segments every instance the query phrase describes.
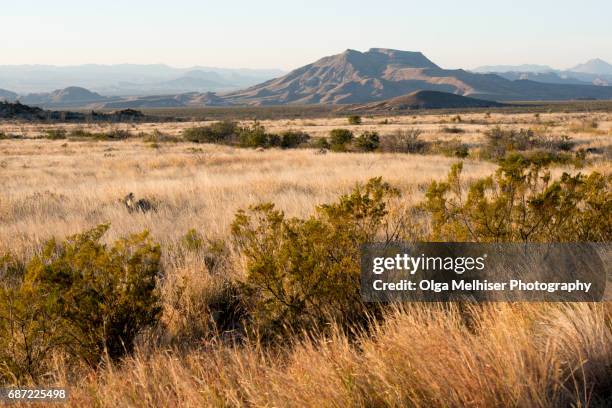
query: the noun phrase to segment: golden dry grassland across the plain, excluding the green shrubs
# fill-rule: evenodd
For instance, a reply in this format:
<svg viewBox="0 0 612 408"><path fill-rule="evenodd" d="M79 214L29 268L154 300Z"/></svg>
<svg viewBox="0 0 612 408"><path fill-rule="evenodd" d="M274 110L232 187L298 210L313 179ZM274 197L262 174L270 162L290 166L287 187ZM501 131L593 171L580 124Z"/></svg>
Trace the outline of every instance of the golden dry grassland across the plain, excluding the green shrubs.
<svg viewBox="0 0 612 408"><path fill-rule="evenodd" d="M494 126L569 135L591 149L581 169L612 173L612 114L476 111L365 117L264 119L271 132L302 130L313 138L331 129L377 131L381 137L419 129L423 140L459 138L471 148ZM211 111L203 117L211 118ZM224 111L225 112L225 111ZM315 114L316 113L316 114ZM239 112L235 119L244 119ZM460 115L460 120L456 118ZM224 113L223 117L226 113ZM261 116L261 115L257 115ZM274 115L271 115L274 116ZM309 114L310 116L310 114ZM270 347L256 336L216 332L211 307L227 280L240 281L243 259L230 248L219 271L206 250L188 251L195 229L206 240L229 241L236 211L273 202L306 217L356 183L382 176L397 187L404 208L424 198L428 184L445 178L456 158L400 153L320 154L317 149L240 149L182 141L151 142L160 134L206 121L155 124L66 125L1 123L0 254L27 260L51 237L64 238L110 222L108 242L148 229L161 244L165 277L159 327L137 351L97 368L68 367L61 355L45 384L68 385L71 406L304 406L304 407L556 407L609 406L610 304L423 305L390 308L369 330L340 327L285 338ZM246 123L246 122L245 122ZM596 126L592 126L596 123ZM462 133L449 134L445 126ZM51 128L92 132L128 130L122 141L47 140ZM174 139L172 139L174 140ZM465 182L492 174L489 160L465 160ZM157 211L126 211L133 192ZM467 316L467 317L466 317ZM20 384L24 385L24 384ZM606 391L608 390L608 391ZM609 392L608 394L609 395Z"/></svg>

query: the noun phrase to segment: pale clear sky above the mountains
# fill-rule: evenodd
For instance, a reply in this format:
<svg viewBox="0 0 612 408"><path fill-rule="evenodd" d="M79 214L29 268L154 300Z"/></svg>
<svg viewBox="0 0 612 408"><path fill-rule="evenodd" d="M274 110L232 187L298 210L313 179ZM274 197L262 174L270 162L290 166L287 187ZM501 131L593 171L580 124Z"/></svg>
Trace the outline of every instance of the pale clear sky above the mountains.
<svg viewBox="0 0 612 408"><path fill-rule="evenodd" d="M0 65L290 70L347 48L444 68L612 63L610 0L5 0Z"/></svg>

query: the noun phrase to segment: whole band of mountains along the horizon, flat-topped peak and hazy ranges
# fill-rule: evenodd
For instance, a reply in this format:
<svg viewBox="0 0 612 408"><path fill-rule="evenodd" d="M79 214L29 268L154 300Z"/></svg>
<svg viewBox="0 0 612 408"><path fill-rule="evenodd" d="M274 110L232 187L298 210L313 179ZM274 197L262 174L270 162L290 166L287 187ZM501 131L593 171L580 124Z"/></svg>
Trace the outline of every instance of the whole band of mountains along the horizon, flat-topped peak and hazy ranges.
<svg viewBox="0 0 612 408"><path fill-rule="evenodd" d="M94 84L99 84L101 78L107 82L121 78L125 81L117 82L117 89L124 91L132 89L133 92L116 95L112 92L97 91L94 87L88 90L80 86L69 86L51 92L17 96L12 92L15 88L7 87L12 91L0 90L0 100L18 99L24 104L46 108L139 109L184 106L367 104L398 97L414 100L414 95L410 94L417 91L445 92L485 102L612 99L612 86L606 86L608 83L612 84L612 67L601 60L589 61L569 71L555 71L540 65L521 65L481 67L475 72L444 69L420 52L373 48L366 52L346 50L274 79L269 77L278 74L278 71L197 68L179 70L179 76L172 76L171 73L176 74L177 69L165 65L85 67L87 68L84 71L82 67L79 69L47 67L46 71L38 69L36 75L44 71L49 76L39 77L41 81L58 81L58 75L65 76L74 69L76 71L73 82L83 82L87 77ZM0 67L0 85L6 82L6 77L3 77L6 69ZM28 69L24 68L22 78L32 78ZM142 74L138 74L139 69L143 69ZM491 69L509 71L484 72ZM608 72L611 73L609 76ZM101 78L92 79L95 73ZM255 81L256 74L267 75L268 78L261 83L257 81L255 85L240 87L244 88L242 90L223 89L225 86L229 88L230 83L235 85L244 81ZM63 80L68 81L66 78ZM140 93L143 89L148 89L149 92ZM176 91L177 89L179 91ZM428 95L428 101L431 101L431 95ZM418 105L417 102L415 103ZM451 102L453 101L449 101ZM455 102L463 104L467 101Z"/></svg>

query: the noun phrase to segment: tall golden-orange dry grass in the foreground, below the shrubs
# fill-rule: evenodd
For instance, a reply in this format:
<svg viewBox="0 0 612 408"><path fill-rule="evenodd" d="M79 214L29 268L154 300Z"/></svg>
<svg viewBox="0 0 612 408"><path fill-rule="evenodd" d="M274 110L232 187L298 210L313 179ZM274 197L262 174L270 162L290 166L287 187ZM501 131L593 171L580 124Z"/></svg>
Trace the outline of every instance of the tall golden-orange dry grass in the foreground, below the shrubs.
<svg viewBox="0 0 612 408"><path fill-rule="evenodd" d="M141 351L79 380L71 405L603 407L611 372L603 305L414 304L356 340Z"/></svg>

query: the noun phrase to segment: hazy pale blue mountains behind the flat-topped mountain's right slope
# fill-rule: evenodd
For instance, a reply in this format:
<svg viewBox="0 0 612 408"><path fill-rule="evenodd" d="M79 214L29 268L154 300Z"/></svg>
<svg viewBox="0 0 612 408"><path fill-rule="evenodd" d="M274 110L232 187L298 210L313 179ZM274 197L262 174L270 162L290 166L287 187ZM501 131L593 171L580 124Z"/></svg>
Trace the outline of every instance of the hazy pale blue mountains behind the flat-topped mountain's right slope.
<svg viewBox="0 0 612 408"><path fill-rule="evenodd" d="M488 65L478 67L473 72L551 84L612 85L612 65L601 59L592 59L568 70L557 70L546 65Z"/></svg>

